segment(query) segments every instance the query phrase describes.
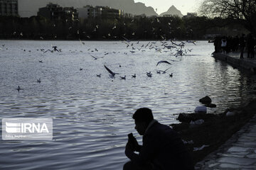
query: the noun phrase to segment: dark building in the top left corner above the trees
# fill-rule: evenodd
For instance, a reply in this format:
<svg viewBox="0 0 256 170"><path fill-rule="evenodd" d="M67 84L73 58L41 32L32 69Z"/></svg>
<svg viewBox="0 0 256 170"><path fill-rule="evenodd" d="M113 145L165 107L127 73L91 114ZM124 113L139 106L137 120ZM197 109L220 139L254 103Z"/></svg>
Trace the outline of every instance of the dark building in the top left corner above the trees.
<svg viewBox="0 0 256 170"><path fill-rule="evenodd" d="M0 0L0 16L18 16L18 0Z"/></svg>

